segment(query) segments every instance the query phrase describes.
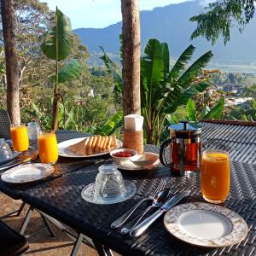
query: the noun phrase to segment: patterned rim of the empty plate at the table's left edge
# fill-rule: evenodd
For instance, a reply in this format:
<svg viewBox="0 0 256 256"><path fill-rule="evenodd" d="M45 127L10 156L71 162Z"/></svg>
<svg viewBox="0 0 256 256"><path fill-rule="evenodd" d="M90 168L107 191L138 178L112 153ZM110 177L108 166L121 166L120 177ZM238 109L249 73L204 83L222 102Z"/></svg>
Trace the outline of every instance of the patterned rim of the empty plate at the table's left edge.
<svg viewBox="0 0 256 256"><path fill-rule="evenodd" d="M12 174L12 172L15 172L17 170L20 170L22 168L27 168L27 167L44 167L44 173L41 177L31 177L31 178L27 178L26 180L15 180L12 177L10 177L10 175ZM42 164L42 163L36 163L36 164L26 164L26 165L20 165L20 166L15 166L14 168L9 169L6 172L3 172L1 175L1 179L3 180L3 182L5 183L31 183L34 181L38 181L41 179L44 179L45 177L48 177L50 174L52 174L54 172L54 167L51 165L47 165L47 164Z"/></svg>

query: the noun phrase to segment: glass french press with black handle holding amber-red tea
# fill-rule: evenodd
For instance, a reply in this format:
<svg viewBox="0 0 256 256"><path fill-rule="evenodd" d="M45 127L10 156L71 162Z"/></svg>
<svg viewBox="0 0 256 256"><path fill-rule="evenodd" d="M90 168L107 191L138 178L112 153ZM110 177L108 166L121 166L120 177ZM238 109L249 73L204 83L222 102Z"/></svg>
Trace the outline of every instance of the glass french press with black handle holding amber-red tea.
<svg viewBox="0 0 256 256"><path fill-rule="evenodd" d="M186 171L198 171L201 168L201 128L198 125L182 121L170 125L170 138L160 146L160 162L177 176ZM170 146L170 161L166 160L166 148ZM167 154L168 155L168 154Z"/></svg>

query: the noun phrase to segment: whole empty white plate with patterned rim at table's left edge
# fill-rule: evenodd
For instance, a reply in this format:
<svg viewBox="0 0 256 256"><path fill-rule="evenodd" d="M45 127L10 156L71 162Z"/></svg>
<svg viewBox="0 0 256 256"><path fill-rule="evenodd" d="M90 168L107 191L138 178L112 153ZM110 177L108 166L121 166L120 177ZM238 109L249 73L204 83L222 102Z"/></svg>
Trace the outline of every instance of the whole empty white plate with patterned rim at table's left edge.
<svg viewBox="0 0 256 256"><path fill-rule="evenodd" d="M47 164L26 164L3 172L1 179L6 183L30 183L48 177L54 167Z"/></svg>

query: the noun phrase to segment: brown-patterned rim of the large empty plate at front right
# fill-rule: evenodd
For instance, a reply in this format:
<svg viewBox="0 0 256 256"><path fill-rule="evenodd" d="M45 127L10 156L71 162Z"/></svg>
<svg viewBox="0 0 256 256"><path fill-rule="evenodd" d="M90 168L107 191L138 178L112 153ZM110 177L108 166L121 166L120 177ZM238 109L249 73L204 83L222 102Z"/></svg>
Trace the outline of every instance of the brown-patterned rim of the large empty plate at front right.
<svg viewBox="0 0 256 256"><path fill-rule="evenodd" d="M192 235L189 236L188 233L180 229L179 225L177 224L177 219L184 212L192 210L207 210L218 212L219 214L224 215L224 217L228 218L232 224L231 232L227 236L214 239L200 238ZM186 241L190 244L200 247L229 247L238 243L239 241L242 241L247 236L248 232L247 223L236 212L233 212L226 207L211 205L203 202L187 203L173 207L168 212L166 212L164 225L166 230L169 231L172 236L177 237L179 240Z"/></svg>

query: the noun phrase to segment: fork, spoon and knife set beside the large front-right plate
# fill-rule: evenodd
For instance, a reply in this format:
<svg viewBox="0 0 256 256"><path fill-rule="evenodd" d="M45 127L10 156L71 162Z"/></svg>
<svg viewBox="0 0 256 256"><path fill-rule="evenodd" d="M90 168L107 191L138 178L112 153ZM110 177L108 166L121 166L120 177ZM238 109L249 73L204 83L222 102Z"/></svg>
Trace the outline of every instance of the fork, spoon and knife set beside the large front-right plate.
<svg viewBox="0 0 256 256"><path fill-rule="evenodd" d="M133 218L129 223L125 224L120 233L130 234L132 237L141 236L148 227L154 223L157 218L174 207L179 201L181 201L185 196L189 195L189 190L179 192L177 194L173 194L171 189L165 188L166 181L161 180L157 188L154 190L152 195L149 195L143 200L139 201L137 205L132 207L128 212L125 212L124 215L116 219L112 224L111 228L116 229L121 225L125 224L125 222L131 217L133 212L137 210L144 201L152 201L152 204L147 207L143 212L137 215L136 218ZM143 217L149 212L151 209L158 208L156 212L149 215L148 218L143 220ZM143 220L143 221L142 221Z"/></svg>

